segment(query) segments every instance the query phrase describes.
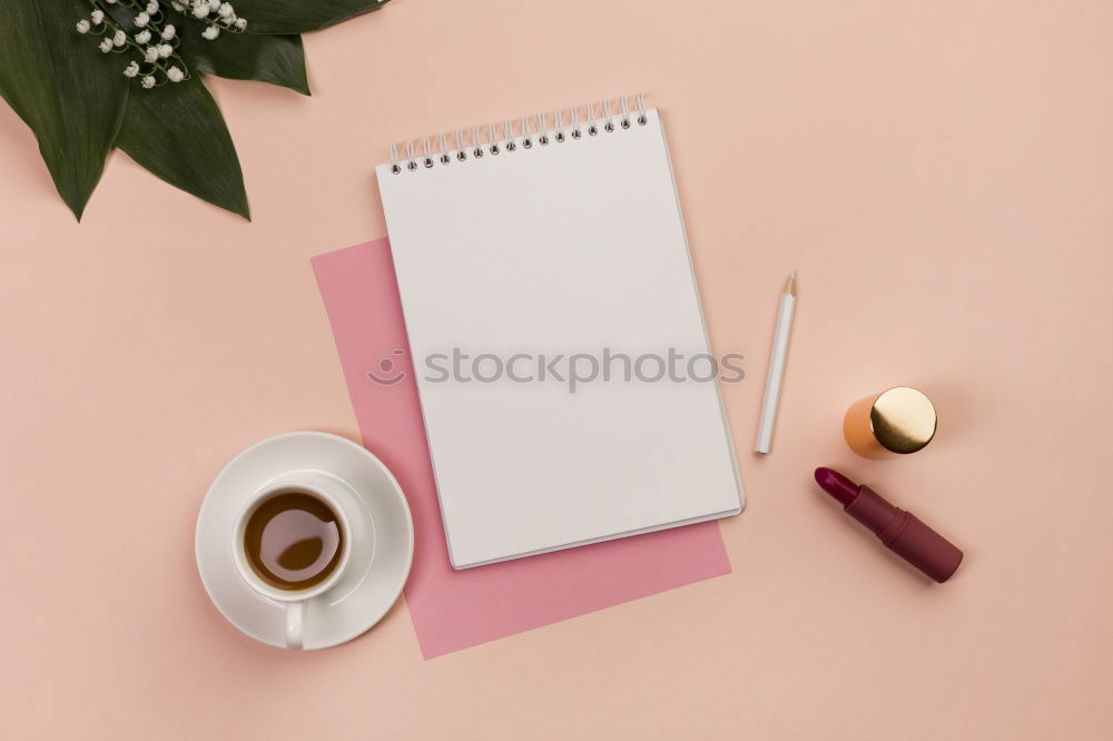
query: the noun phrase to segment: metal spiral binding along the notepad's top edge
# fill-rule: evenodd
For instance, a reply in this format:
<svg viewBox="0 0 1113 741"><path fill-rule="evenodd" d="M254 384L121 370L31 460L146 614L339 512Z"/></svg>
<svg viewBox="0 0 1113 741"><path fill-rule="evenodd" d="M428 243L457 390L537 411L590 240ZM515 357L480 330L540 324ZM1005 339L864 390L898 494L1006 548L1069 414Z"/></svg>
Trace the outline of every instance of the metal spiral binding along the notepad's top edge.
<svg viewBox="0 0 1113 741"><path fill-rule="evenodd" d="M614 99L607 99L558 109L552 112L551 119L544 112L528 116L518 120L516 128L514 119L506 119L501 124L473 126L466 130L456 129L423 137L417 141L394 144L391 145L391 172L401 175L403 171L415 172L437 165L444 167L453 160L464 162L469 158L482 159L485 155L515 152L519 148L532 149L534 144L548 147L550 144L581 139L584 131L589 137L594 137L600 130L612 134L617 128L629 129L634 122L639 126L649 122L646 116L646 96L642 93L633 96L633 108L630 106L631 99L622 97L618 98L615 112L614 102Z"/></svg>

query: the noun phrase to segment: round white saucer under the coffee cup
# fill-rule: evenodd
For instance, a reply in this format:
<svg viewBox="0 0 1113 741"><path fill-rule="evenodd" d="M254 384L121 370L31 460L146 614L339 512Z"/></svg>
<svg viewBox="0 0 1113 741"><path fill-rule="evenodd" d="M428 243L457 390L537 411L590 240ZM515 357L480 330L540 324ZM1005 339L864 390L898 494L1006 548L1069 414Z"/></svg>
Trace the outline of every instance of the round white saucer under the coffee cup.
<svg viewBox="0 0 1113 741"><path fill-rule="evenodd" d="M383 463L355 443L294 432L256 443L224 467L197 515L197 569L205 590L233 625L285 648L285 605L247 585L236 569L233 527L247 500L296 471L325 473L354 491L374 523L374 555L324 594L308 600L305 648L326 649L367 631L397 601L410 575L414 528L402 488ZM353 543L353 547L357 544Z"/></svg>

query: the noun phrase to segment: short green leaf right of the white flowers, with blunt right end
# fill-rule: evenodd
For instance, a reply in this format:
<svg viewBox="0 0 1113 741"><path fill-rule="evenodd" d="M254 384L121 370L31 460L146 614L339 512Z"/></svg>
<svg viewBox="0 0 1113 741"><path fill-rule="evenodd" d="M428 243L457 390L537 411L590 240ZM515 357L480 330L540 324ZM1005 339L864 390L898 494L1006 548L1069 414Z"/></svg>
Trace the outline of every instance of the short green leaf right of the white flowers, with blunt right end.
<svg viewBox="0 0 1113 741"><path fill-rule="evenodd" d="M201 37L204 23L179 16L174 19L174 27L181 37L178 53L193 72L208 72L232 80L262 80L309 95L302 37L225 31L209 41Z"/></svg>

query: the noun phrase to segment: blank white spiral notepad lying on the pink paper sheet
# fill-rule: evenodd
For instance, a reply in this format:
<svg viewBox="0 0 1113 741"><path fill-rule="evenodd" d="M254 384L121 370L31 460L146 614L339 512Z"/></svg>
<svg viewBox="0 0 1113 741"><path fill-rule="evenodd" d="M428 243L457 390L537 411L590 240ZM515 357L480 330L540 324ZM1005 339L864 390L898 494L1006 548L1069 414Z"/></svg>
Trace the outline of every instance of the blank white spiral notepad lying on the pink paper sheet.
<svg viewBox="0 0 1113 741"><path fill-rule="evenodd" d="M452 565L740 512L659 112L622 98L391 154L376 175Z"/></svg>

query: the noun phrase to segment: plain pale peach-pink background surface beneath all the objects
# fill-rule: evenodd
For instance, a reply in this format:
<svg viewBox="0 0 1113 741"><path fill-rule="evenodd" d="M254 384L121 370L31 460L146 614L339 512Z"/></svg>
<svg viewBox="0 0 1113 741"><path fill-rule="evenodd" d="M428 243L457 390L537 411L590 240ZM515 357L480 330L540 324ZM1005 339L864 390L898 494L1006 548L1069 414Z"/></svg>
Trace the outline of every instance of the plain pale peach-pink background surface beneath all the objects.
<svg viewBox="0 0 1113 741"><path fill-rule="evenodd" d="M316 95L213 81L240 221L115 157L85 223L0 109L0 718L43 739L1101 739L1113 733L1113 6L398 0L306 39ZM312 255L381 236L387 145L643 90L666 117L747 511L728 576L424 661L400 604L293 654L193 563L224 462L357 427ZM774 455L748 451L785 273ZM844 408L936 401L915 456ZM967 551L926 584L810 481ZM868 713L863 712L868 699Z"/></svg>

